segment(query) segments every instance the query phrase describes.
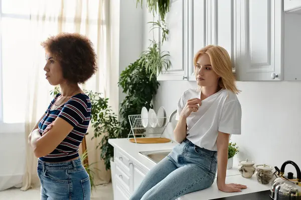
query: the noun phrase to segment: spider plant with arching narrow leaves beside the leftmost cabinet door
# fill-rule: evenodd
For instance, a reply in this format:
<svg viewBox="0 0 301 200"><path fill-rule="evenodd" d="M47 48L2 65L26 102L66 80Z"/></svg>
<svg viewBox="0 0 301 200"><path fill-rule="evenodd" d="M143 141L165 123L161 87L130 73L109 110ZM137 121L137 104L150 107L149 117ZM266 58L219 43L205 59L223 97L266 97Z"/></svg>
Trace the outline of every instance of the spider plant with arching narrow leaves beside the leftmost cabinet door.
<svg viewBox="0 0 301 200"><path fill-rule="evenodd" d="M147 73L150 74L149 78L152 79L153 75L163 73L163 69L167 71L172 63L168 59L170 56L168 51L160 52L158 43L153 42L147 50L142 52L139 59L139 64L145 67Z"/></svg>

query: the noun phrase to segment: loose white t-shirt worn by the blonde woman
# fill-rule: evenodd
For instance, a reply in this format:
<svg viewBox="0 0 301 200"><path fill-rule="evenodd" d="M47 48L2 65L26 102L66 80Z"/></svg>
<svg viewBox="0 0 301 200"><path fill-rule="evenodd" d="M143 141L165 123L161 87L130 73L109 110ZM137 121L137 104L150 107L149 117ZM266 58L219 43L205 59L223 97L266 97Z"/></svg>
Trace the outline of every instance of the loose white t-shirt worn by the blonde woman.
<svg viewBox="0 0 301 200"><path fill-rule="evenodd" d="M176 120L179 120L187 100L200 96L201 91L198 89L186 90L178 102ZM241 133L241 105L235 93L221 89L202 100L198 111L192 112L186 123L187 139L200 147L217 150L218 131Z"/></svg>

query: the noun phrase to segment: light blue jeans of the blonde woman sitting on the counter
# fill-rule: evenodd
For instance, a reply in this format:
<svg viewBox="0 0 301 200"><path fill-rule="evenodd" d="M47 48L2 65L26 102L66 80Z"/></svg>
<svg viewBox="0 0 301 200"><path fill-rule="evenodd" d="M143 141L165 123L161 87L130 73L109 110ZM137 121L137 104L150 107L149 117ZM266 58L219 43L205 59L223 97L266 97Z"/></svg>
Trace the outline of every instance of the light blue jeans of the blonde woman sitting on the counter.
<svg viewBox="0 0 301 200"><path fill-rule="evenodd" d="M174 200L210 187L217 171L217 151L196 146L188 139L146 174L131 200Z"/></svg>

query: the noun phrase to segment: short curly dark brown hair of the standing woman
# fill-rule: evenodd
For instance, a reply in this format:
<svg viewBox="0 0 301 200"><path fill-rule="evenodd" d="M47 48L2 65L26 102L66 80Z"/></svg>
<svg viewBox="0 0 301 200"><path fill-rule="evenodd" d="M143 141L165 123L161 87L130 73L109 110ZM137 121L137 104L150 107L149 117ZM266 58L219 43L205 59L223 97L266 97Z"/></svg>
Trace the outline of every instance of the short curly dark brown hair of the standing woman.
<svg viewBox="0 0 301 200"><path fill-rule="evenodd" d="M93 43L84 35L63 32L41 45L59 60L63 77L69 82L84 83L97 71Z"/></svg>

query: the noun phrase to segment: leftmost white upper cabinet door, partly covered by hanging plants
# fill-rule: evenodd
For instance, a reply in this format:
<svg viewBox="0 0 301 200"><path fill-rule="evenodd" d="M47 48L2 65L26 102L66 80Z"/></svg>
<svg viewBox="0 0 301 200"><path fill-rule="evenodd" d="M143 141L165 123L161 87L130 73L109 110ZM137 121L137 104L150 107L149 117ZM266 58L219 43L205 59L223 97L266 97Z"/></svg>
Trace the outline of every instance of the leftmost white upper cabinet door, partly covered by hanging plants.
<svg viewBox="0 0 301 200"><path fill-rule="evenodd" d="M171 68L160 73L158 80L187 80L188 79L188 1L172 0L166 23L169 29L167 40L161 45L161 51L169 51ZM162 32L159 34L161 40Z"/></svg>

